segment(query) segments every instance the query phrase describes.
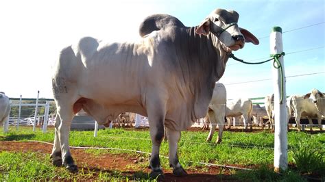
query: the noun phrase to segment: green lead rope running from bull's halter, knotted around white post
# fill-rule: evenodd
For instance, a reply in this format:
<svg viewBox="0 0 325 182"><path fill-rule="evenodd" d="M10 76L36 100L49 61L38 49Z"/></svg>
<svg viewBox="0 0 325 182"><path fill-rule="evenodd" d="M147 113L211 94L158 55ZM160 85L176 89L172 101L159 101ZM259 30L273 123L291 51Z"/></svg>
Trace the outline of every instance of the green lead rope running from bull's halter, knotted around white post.
<svg viewBox="0 0 325 182"><path fill-rule="evenodd" d="M279 61L279 57L284 56L284 55L285 55L284 52L279 53L279 54L272 54L272 55L269 56L269 57L272 57L271 59L266 60L266 61L263 61L263 62L245 62L245 61L243 61L243 60L241 60L241 59L235 57L233 53L230 53L229 57L232 58L232 59L234 59L234 60L236 60L236 61L238 61L238 62L242 62L242 63L244 63L244 64L263 64L263 63L265 63L265 62L269 62L269 61L271 61L271 60L274 60L274 62L273 62L273 66L274 66L274 68L277 68L277 69L280 68L280 76L281 76L281 93L280 93L281 95L280 95L280 104L282 104L282 101L283 101L283 92L284 92L284 91L283 91L283 88L284 88L284 86L283 86L283 84L284 84L284 80L283 80L283 77L282 77L282 75L283 75L283 70L282 70L282 65L281 65L281 63L280 63L280 61Z"/></svg>

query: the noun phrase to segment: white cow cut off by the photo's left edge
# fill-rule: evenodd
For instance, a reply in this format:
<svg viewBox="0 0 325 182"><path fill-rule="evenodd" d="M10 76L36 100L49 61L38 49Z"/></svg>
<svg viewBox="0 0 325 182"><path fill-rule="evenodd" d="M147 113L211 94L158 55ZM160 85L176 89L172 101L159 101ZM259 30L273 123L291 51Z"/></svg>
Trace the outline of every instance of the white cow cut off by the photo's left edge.
<svg viewBox="0 0 325 182"><path fill-rule="evenodd" d="M0 92L0 125L4 122L3 131L7 132L10 114L10 99L4 92Z"/></svg>

